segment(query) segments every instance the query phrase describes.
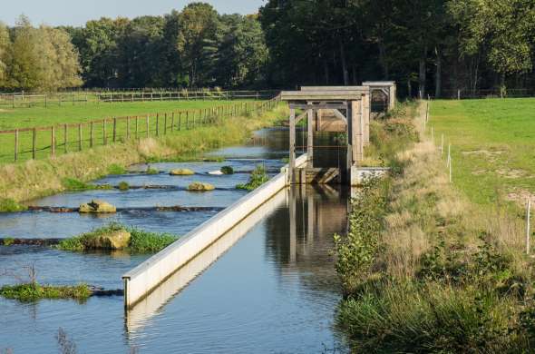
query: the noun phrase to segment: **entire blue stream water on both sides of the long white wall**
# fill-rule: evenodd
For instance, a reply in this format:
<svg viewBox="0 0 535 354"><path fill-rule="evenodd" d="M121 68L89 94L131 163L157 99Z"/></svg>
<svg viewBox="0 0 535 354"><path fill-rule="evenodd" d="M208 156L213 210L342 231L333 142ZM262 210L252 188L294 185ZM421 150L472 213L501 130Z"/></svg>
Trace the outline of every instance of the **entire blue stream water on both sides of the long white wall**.
<svg viewBox="0 0 535 354"><path fill-rule="evenodd" d="M168 185L171 191L92 191L63 193L34 205L77 206L92 198L121 208L155 205L226 207L244 195L235 190L247 173L211 176L207 172L232 165L248 172L258 163L276 172L283 162L287 132L268 130L248 146L215 152L225 162L161 163L159 175L133 173L98 183ZM188 167L197 174L171 177L172 168ZM136 173L137 171L137 173ZM218 190L190 193L192 181L210 182ZM330 256L332 234L346 228L347 192L310 187L282 191L248 218L244 232L223 237L197 261L180 270L139 307L125 313L122 297L41 300L22 304L0 299L0 352L53 353L59 328L81 353L314 353L345 351L333 329L339 286ZM109 221L150 231L184 234L216 211L124 211L110 217L22 212L0 216L0 236L63 238ZM121 275L148 258L121 252L71 253L38 247L0 246L0 270L34 263L43 283L85 282L121 289ZM205 270L205 268L208 268ZM0 284L14 283L0 277ZM187 286L186 286L187 285Z"/></svg>

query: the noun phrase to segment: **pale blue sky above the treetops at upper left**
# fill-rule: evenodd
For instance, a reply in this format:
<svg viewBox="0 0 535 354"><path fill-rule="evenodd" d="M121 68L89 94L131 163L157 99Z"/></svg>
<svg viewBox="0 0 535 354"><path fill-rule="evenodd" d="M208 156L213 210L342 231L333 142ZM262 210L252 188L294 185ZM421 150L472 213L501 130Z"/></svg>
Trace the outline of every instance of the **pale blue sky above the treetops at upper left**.
<svg viewBox="0 0 535 354"><path fill-rule="evenodd" d="M198 0L199 1L199 0ZM84 25L88 20L106 17L163 15L181 10L194 0L0 0L0 21L14 25L27 15L34 25ZM254 14L264 0L203 0L220 14ZM2 4L4 3L4 4Z"/></svg>

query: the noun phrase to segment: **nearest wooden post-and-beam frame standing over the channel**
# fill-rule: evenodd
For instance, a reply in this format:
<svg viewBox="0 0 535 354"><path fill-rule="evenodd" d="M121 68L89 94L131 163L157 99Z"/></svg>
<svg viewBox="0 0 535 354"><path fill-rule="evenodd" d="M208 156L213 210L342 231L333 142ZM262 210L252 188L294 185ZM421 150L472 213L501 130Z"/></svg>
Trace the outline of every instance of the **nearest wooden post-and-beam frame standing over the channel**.
<svg viewBox="0 0 535 354"><path fill-rule="evenodd" d="M314 119L316 127L321 120L321 110L330 110L345 122L347 133L346 171L364 158L365 137L369 139L370 88L366 86L304 87L301 91L284 91L280 99L290 108L290 142L288 183L296 183L296 126L307 121L307 170L314 170ZM297 110L304 111L296 115ZM318 118L319 117L319 118ZM367 124L365 123L367 117ZM350 179L349 179L350 180ZM300 179L303 182L303 179Z"/></svg>

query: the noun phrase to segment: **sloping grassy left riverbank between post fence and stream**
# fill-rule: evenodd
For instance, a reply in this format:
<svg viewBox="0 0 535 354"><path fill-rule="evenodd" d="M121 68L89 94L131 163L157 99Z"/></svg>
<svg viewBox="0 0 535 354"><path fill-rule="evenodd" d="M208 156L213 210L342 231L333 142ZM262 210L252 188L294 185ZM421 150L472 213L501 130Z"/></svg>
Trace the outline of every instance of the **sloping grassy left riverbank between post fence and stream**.
<svg viewBox="0 0 535 354"><path fill-rule="evenodd" d="M67 191L68 179L89 182L133 163L184 155L195 158L224 145L243 143L251 132L271 126L286 115L286 107L279 105L270 112L232 117L160 138L131 140L55 159L5 164L0 166L0 207L4 206L4 211L17 211L19 203Z"/></svg>

